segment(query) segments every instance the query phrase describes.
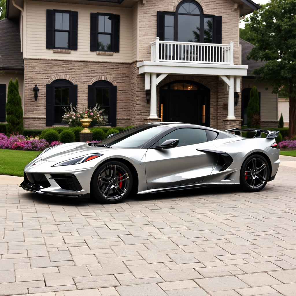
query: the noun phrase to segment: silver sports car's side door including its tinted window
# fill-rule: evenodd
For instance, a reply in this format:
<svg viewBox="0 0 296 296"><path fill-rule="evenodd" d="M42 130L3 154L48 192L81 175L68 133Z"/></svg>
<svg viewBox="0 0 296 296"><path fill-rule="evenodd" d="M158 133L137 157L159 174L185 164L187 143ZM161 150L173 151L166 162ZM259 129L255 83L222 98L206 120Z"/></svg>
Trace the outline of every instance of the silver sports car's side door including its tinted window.
<svg viewBox="0 0 296 296"><path fill-rule="evenodd" d="M165 140L178 139L178 146L153 149ZM215 147L207 141L206 131L179 128L164 136L145 155L147 189L183 186L202 182L213 170L215 157L197 149Z"/></svg>

